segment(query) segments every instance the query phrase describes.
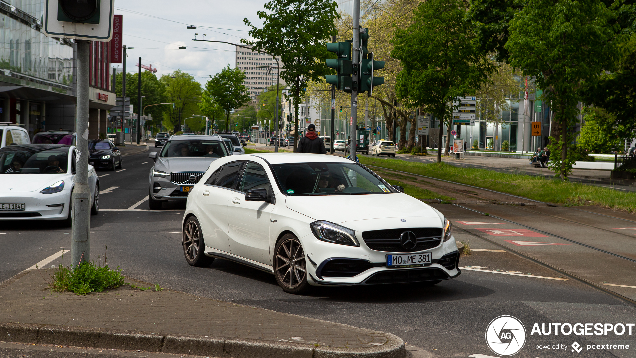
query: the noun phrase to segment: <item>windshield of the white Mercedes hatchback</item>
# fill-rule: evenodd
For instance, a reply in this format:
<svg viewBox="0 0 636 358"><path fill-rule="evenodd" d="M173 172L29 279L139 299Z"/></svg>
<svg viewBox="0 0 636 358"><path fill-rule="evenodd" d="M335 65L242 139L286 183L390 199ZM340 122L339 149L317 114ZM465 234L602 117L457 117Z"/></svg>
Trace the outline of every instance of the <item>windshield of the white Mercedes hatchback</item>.
<svg viewBox="0 0 636 358"><path fill-rule="evenodd" d="M356 163L289 163L273 169L287 195L391 193L385 182Z"/></svg>

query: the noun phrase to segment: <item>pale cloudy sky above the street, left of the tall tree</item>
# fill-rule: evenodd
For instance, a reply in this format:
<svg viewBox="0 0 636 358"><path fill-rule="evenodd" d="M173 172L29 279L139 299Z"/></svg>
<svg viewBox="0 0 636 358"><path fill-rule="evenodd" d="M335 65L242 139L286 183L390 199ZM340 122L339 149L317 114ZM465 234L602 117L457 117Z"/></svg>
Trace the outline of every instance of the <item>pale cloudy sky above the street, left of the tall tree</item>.
<svg viewBox="0 0 636 358"><path fill-rule="evenodd" d="M262 25L256 11L263 10L264 3L264 0L117 0L114 13L123 15L123 45L134 47L127 52L127 71L137 71L135 64L141 56L142 64L152 64L158 69L157 76L181 69L204 84L209 75L214 76L226 65L234 67L234 46L191 41L195 33L197 39L207 34L205 39L238 43L240 38L249 38L243 18L256 26ZM185 24L197 29L186 29ZM179 45L186 46L186 50L179 50ZM118 65L121 66L113 64Z"/></svg>

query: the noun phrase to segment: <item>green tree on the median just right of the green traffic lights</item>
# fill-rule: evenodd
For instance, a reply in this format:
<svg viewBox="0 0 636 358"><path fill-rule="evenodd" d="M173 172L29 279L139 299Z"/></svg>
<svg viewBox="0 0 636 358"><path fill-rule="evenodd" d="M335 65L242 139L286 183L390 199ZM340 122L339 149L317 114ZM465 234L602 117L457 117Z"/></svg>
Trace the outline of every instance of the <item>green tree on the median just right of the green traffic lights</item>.
<svg viewBox="0 0 636 358"><path fill-rule="evenodd" d="M426 107L449 131L455 97L474 93L492 67L471 39L465 9L460 0L429 0L413 11L413 25L397 29L392 40L391 55L404 67L397 76L397 97L406 107ZM449 141L450 133L446 148Z"/></svg>

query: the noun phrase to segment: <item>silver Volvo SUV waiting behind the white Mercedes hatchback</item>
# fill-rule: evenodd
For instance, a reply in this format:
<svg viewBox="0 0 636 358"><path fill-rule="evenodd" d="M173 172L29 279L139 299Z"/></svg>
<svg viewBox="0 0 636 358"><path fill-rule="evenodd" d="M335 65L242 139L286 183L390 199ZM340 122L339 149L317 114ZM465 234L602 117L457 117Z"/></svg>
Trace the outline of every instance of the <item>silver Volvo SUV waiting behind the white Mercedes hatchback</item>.
<svg viewBox="0 0 636 358"><path fill-rule="evenodd" d="M151 210L168 200L186 200L214 160L230 155L219 135L172 135L160 152L151 152L155 161L148 175Z"/></svg>

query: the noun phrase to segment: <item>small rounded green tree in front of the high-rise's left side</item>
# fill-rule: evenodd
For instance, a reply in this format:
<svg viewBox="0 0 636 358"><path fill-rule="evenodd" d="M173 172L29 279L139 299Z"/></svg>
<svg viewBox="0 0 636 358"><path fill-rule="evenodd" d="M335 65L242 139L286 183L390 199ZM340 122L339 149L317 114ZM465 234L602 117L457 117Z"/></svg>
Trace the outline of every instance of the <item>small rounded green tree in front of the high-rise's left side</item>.
<svg viewBox="0 0 636 358"><path fill-rule="evenodd" d="M225 130L229 131L230 113L233 109L244 106L250 98L243 82L245 73L238 67L230 69L230 65L218 72L205 83L204 102L218 105L225 113Z"/></svg>

